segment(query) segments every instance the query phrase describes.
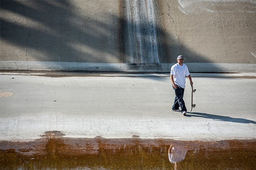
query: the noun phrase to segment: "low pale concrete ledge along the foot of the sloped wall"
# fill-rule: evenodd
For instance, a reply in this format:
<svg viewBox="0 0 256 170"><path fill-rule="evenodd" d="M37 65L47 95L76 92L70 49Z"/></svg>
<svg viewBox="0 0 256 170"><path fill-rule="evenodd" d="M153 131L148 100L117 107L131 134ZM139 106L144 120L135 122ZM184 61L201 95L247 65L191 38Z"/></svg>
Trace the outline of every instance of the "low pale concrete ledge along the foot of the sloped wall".
<svg viewBox="0 0 256 170"><path fill-rule="evenodd" d="M1 70L56 70L107 72L169 72L174 63L128 64L51 61L0 61ZM256 64L245 63L185 63L190 72L255 72Z"/></svg>

